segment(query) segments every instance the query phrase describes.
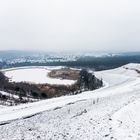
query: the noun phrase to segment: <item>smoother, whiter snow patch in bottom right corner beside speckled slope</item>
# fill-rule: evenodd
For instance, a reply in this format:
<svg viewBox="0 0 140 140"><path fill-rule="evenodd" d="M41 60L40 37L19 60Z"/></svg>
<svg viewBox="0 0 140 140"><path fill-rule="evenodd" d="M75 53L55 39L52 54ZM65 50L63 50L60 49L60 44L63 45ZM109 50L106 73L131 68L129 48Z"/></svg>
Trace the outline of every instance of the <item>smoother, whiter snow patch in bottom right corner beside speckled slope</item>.
<svg viewBox="0 0 140 140"><path fill-rule="evenodd" d="M123 140L140 139L140 99L120 109L112 116L113 133Z"/></svg>

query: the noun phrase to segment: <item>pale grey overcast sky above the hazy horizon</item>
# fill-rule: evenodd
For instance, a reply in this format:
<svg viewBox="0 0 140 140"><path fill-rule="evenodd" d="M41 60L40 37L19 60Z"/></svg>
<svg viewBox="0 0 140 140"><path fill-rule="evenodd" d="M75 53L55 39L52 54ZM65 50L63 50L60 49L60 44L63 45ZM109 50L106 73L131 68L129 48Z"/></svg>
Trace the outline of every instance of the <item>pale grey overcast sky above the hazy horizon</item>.
<svg viewBox="0 0 140 140"><path fill-rule="evenodd" d="M0 50L140 51L140 0L0 0Z"/></svg>

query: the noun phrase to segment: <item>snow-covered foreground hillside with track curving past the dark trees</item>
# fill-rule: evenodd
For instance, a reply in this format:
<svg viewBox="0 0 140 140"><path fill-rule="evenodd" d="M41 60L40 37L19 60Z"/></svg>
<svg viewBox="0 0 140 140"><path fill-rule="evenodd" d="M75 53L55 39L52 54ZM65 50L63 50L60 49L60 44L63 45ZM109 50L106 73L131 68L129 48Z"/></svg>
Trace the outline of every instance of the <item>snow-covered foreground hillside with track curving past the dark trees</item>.
<svg viewBox="0 0 140 140"><path fill-rule="evenodd" d="M96 91L0 108L0 140L140 139L136 70L140 64L96 72L105 81Z"/></svg>

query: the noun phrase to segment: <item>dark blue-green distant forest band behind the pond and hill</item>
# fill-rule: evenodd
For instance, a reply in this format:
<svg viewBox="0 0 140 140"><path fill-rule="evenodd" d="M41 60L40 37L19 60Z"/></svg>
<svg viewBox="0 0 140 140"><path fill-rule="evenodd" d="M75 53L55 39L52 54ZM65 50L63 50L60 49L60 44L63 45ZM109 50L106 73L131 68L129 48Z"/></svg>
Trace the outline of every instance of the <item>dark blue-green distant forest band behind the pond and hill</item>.
<svg viewBox="0 0 140 140"><path fill-rule="evenodd" d="M67 66L74 68L90 68L95 71L107 70L117 68L128 63L140 63L140 55L119 55L119 56L106 56L94 57L83 56L76 61L66 62L19 62L14 64L7 64L6 61L0 62L0 68L22 67L22 66Z"/></svg>

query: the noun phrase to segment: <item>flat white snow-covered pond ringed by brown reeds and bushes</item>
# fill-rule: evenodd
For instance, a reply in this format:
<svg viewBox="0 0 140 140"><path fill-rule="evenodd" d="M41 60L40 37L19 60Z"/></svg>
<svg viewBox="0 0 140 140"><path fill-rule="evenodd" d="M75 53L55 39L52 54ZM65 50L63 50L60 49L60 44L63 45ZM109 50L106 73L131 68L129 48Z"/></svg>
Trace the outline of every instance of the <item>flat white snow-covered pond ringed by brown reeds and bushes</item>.
<svg viewBox="0 0 140 140"><path fill-rule="evenodd" d="M52 68L53 69L53 68ZM11 82L28 82L35 84L56 84L56 85L72 85L76 81L50 78L48 73L51 68L32 67L17 68L3 71Z"/></svg>

